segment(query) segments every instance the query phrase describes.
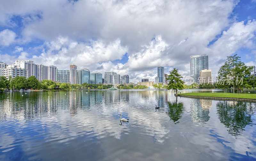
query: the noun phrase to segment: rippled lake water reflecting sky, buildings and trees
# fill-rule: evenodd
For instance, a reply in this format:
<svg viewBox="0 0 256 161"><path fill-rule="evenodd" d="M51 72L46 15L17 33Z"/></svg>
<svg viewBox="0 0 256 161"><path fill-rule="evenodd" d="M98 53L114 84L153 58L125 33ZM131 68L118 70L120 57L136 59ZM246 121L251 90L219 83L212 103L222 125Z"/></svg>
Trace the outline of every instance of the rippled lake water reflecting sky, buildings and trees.
<svg viewBox="0 0 256 161"><path fill-rule="evenodd" d="M168 90L0 93L0 160L256 160L255 112Z"/></svg>

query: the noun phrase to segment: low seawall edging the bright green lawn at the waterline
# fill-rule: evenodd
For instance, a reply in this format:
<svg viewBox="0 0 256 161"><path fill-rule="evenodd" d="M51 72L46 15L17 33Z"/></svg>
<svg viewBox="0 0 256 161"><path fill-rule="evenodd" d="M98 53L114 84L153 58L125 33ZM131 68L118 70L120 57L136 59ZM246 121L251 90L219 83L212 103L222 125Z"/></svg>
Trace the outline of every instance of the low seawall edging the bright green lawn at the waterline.
<svg viewBox="0 0 256 161"><path fill-rule="evenodd" d="M194 96L194 95L183 95L183 94L178 94L178 96L180 96L180 97L188 97L188 98L203 98L203 99L210 99L210 100L229 100L229 101L256 102L256 99L250 99L250 98L208 97L208 96Z"/></svg>

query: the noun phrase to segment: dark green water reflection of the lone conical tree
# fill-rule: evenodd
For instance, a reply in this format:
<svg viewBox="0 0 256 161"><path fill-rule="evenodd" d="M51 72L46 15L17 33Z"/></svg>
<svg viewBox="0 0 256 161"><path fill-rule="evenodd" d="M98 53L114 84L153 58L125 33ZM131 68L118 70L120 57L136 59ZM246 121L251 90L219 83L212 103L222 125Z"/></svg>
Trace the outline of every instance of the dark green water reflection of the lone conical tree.
<svg viewBox="0 0 256 161"><path fill-rule="evenodd" d="M177 101L169 102L167 101L167 115L170 117L170 119L176 124L179 123L179 119L182 117L183 111L184 111L184 105L183 103Z"/></svg>

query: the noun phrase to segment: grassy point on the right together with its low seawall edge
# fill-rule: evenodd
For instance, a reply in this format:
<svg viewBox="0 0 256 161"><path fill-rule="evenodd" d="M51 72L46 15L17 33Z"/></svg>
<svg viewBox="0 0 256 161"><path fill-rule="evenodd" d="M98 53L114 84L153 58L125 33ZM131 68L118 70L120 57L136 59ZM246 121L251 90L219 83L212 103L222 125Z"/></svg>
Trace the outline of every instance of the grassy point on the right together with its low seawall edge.
<svg viewBox="0 0 256 161"><path fill-rule="evenodd" d="M181 97L190 98L207 98L207 99L218 99L218 100L235 100L235 101L255 101L256 94L237 94L237 93L183 93L178 94Z"/></svg>

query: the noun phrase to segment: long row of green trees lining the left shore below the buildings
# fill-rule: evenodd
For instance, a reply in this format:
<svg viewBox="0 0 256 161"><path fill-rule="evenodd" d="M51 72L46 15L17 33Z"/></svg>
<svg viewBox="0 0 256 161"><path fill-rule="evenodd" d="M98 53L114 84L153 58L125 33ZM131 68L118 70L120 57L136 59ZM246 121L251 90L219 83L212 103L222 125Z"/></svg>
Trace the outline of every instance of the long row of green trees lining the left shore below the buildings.
<svg viewBox="0 0 256 161"><path fill-rule="evenodd" d="M0 89L108 89L112 85L102 85L102 84L68 84L59 83L51 80L43 80L39 82L35 76L30 76L28 79L26 77L16 76L9 79L6 77L0 77Z"/></svg>

